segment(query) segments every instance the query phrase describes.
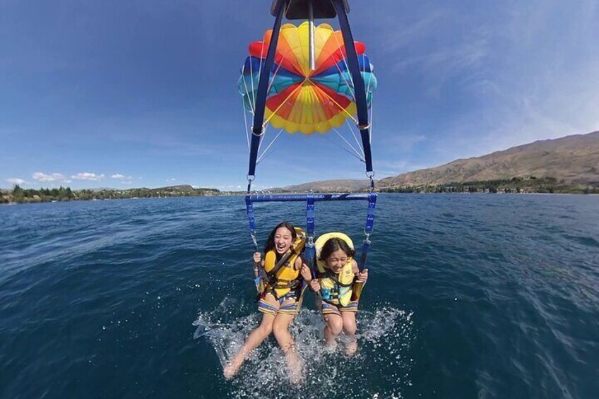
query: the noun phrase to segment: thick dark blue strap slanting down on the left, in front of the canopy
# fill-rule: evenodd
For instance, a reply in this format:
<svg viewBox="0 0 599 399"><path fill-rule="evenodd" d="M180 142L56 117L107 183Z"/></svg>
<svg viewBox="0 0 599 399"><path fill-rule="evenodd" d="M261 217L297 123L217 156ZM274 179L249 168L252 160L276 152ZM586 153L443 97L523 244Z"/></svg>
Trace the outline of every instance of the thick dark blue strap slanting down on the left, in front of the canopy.
<svg viewBox="0 0 599 399"><path fill-rule="evenodd" d="M283 20L283 14L289 0L280 0L275 5L275 24L273 25L273 34L271 42L268 44L268 53L266 54L266 61L264 63L264 70L271 71L275 61L275 52L279 40L279 32L281 27L281 21ZM255 176L256 174L256 160L258 157L258 147L260 144L261 133L264 131L264 111L266 108L266 94L268 89L268 78L270 72L262 73L258 81L258 91L256 96L256 108L254 109L254 121L251 126L251 131L254 133L251 136L251 145L249 149L249 167L248 177Z"/></svg>

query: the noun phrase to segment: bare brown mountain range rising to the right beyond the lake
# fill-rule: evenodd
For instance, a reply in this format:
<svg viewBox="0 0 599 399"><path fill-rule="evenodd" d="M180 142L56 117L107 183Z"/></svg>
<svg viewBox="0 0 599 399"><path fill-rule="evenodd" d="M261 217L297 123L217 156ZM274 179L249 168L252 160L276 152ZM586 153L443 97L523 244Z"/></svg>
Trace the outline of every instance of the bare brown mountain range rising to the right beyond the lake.
<svg viewBox="0 0 599 399"><path fill-rule="evenodd" d="M375 164L376 165L376 164ZM443 185L468 181L554 179L564 186L599 187L599 131L540 140L480 157L386 177L378 189ZM364 191L363 180L326 180L287 186L280 191Z"/></svg>

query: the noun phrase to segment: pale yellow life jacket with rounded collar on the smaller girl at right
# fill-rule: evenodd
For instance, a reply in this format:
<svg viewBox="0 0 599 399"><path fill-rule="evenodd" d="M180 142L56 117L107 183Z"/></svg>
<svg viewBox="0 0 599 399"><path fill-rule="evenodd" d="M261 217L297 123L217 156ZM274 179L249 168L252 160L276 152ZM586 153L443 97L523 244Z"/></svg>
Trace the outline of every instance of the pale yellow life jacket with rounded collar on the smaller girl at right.
<svg viewBox="0 0 599 399"><path fill-rule="evenodd" d="M343 233L326 233L316 239L314 247L316 248L316 268L319 273L320 293L325 302L347 306L352 297L352 285L355 277L352 270L352 257L348 258L348 262L339 270L339 274L333 273L333 270L327 268L326 262L320 260L320 253L324 244L331 238L343 239L351 249L354 248L352 239Z"/></svg>

